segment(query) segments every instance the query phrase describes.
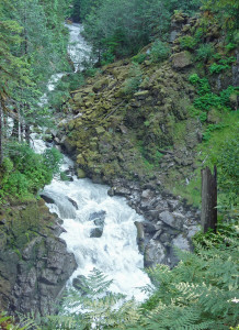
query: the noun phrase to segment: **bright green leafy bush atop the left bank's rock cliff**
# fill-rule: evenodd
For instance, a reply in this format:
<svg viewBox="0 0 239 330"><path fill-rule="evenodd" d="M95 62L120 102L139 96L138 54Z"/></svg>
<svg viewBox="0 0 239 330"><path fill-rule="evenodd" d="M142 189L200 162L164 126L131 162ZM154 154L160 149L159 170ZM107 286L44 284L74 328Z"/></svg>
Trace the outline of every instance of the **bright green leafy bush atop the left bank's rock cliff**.
<svg viewBox="0 0 239 330"><path fill-rule="evenodd" d="M0 172L0 201L7 197L34 197L59 172L60 160L61 154L56 148L38 155L26 144L9 144Z"/></svg>

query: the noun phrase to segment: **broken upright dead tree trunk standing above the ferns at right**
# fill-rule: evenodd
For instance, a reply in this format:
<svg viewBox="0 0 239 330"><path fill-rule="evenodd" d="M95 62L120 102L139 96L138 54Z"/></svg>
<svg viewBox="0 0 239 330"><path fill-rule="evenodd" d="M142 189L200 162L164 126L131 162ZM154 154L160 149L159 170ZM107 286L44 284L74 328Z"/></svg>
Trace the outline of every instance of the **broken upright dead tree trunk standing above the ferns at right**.
<svg viewBox="0 0 239 330"><path fill-rule="evenodd" d="M214 175L208 167L201 170L202 174L202 213L201 223L203 231L208 229L216 231L217 227L217 172L214 166Z"/></svg>

